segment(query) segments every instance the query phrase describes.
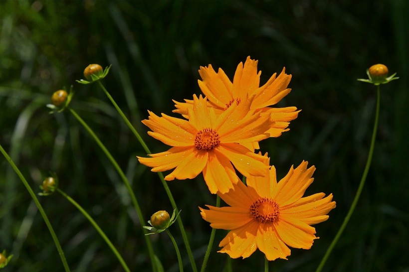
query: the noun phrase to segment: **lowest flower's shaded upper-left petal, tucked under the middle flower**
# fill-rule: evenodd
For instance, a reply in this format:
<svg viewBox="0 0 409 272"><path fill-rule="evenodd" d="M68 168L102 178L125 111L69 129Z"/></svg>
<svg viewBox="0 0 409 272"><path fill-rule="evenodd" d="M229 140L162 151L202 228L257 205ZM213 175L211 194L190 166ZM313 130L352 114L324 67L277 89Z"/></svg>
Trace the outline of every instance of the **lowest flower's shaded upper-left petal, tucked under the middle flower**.
<svg viewBox="0 0 409 272"><path fill-rule="evenodd" d="M249 209L251 204L253 204L253 202L259 198L258 196L251 198L248 187L241 181L233 184L233 189L228 191L227 193L217 193L217 195L227 205L231 207L238 207L241 209Z"/></svg>

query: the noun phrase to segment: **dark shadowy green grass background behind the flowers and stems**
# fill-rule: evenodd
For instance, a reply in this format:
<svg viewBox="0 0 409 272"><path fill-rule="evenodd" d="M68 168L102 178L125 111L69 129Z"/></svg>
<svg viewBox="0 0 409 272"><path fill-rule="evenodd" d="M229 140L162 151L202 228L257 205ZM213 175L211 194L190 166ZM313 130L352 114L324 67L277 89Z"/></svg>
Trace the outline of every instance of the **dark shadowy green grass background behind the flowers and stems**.
<svg viewBox="0 0 409 272"><path fill-rule="evenodd" d="M286 67L292 92L278 106L301 109L290 132L261 142L282 178L303 159L315 165L307 193L333 193L337 208L316 227L311 250L292 249L274 271L314 271L335 236L358 187L374 122L375 87L358 82L366 69L386 64L401 78L382 86L373 164L357 210L324 271L409 271L408 98L409 2L291 0L2 0L0 1L0 143L31 187L57 173L60 188L79 202L117 246L132 271L150 271L139 222L117 172L68 112L49 115L45 104L63 86L74 86L71 106L118 160L145 214L172 207L158 176L140 165L142 147L96 84L80 85L91 63L112 64L104 85L151 151L167 146L149 137L147 110L172 114L172 99L200 94L200 66L221 67L232 80L248 55L259 60L261 84ZM214 205L202 175L169 183L203 261L210 227L198 206ZM89 222L61 195L40 197L75 272L122 271ZM179 229L185 269L190 264ZM207 271L222 271L215 253ZM168 272L178 271L173 245L151 236ZM14 255L4 271L63 271L44 221L4 158L0 158L0 252ZM233 271L262 270L259 252L232 260Z"/></svg>

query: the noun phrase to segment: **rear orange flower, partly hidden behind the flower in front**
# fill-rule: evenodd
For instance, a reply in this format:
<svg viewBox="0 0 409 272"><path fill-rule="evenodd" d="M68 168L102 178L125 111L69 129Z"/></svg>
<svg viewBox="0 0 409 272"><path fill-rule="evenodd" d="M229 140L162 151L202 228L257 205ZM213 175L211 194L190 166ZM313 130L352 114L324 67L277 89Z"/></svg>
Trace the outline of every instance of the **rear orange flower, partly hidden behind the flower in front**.
<svg viewBox="0 0 409 272"><path fill-rule="evenodd" d="M272 121L268 133L271 137L278 137L282 132L288 131L289 122L296 119L299 111L296 107L272 108L271 105L277 104L285 97L291 89L287 86L290 83L291 75L285 73L285 68L276 78L274 73L266 84L259 87L261 71L257 73L257 60L252 60L248 56L244 65L242 62L237 66L234 74L233 83L230 82L222 69L216 73L209 64L208 67L200 67L199 74L202 80L198 80L199 87L207 97L207 106L214 109L216 114L221 114L232 104L239 104L240 101L255 95L250 109L267 112L271 115ZM174 101L177 110L175 113L188 117L188 109L192 108L193 101L185 99L186 103ZM251 147L247 145L247 147ZM258 144L254 144L258 148Z"/></svg>

